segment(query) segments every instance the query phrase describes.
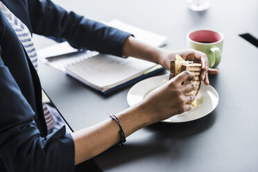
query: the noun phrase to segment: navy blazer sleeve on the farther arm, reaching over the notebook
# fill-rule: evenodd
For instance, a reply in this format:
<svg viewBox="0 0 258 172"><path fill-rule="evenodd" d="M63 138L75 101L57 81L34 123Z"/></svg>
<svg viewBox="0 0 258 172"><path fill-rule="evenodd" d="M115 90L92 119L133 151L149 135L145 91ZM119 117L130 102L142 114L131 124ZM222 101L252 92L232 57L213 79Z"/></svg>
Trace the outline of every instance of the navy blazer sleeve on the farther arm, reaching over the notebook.
<svg viewBox="0 0 258 172"><path fill-rule="evenodd" d="M50 0L28 0L28 10L33 33L57 42L67 41L76 49L121 56L123 42L131 35L67 12Z"/></svg>

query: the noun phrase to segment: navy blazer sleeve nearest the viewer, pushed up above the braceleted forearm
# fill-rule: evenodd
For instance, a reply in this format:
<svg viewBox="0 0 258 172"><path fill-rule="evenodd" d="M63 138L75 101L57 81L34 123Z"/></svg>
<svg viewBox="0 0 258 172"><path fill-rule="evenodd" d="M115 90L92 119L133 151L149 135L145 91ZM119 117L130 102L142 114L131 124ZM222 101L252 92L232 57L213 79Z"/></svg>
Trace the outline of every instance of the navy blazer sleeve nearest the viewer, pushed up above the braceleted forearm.
<svg viewBox="0 0 258 172"><path fill-rule="evenodd" d="M1 54L1 46L0 46ZM0 160L8 171L74 171L74 141L65 127L40 137L31 106L0 57Z"/></svg>

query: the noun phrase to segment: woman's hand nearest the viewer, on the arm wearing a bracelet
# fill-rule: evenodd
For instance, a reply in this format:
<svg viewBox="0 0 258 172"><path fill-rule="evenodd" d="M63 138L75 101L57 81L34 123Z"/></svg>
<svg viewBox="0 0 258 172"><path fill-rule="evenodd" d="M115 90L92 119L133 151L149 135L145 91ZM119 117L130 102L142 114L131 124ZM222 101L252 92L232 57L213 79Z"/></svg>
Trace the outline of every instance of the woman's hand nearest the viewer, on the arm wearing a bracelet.
<svg viewBox="0 0 258 172"><path fill-rule="evenodd" d="M196 89L196 85L188 83L182 85L184 80L194 80L195 76L189 71L184 71L169 80L166 84L150 92L140 104L144 114L149 115L150 123L168 119L175 114L189 111L195 96L186 96L187 92Z"/></svg>

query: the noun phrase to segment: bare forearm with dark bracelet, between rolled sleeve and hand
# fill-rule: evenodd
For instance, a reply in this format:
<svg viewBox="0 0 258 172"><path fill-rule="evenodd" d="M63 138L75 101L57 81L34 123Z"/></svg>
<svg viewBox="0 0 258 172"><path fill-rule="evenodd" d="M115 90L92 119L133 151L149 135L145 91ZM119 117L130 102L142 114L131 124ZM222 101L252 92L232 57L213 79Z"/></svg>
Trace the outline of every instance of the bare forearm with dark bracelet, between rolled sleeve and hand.
<svg viewBox="0 0 258 172"><path fill-rule="evenodd" d="M144 114L139 106L130 107L116 114L126 134L147 126L150 123L148 116ZM84 128L72 133L75 144L75 163L79 164L85 160L102 153L121 139L119 136L119 125L112 119L107 119L89 128Z"/></svg>

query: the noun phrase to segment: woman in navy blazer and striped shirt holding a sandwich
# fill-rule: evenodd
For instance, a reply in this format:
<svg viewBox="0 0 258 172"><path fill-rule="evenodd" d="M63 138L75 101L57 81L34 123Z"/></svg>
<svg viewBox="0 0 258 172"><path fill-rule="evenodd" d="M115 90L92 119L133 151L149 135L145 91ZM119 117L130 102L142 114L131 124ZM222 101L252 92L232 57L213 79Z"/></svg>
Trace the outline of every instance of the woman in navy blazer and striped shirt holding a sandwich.
<svg viewBox="0 0 258 172"><path fill-rule="evenodd" d="M132 132L190 110L194 98L184 94L195 89L195 85L181 85L184 80L193 80L194 76L183 72L116 117L71 134L62 127L48 135L48 129L54 124L49 122L51 116L47 116L49 113L42 107L32 33L57 42L67 41L76 49L149 60L166 69L178 53L186 60L201 62L201 80L209 84L209 62L204 53L166 51L148 46L130 33L67 12L49 0L0 2L0 169L74 171L75 164L114 144L123 144Z"/></svg>

